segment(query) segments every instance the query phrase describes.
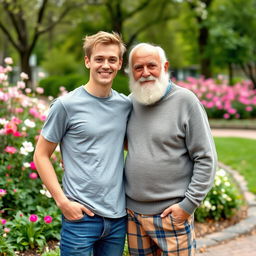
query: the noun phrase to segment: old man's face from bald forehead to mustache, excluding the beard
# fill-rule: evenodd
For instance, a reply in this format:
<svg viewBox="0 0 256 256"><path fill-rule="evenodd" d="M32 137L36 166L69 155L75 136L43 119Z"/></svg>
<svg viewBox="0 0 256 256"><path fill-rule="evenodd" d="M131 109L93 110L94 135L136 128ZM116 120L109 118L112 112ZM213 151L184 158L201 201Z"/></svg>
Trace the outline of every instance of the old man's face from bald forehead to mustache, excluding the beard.
<svg viewBox="0 0 256 256"><path fill-rule="evenodd" d="M158 52L150 47L139 48L132 56L132 73L140 85L154 83L161 74L161 60Z"/></svg>

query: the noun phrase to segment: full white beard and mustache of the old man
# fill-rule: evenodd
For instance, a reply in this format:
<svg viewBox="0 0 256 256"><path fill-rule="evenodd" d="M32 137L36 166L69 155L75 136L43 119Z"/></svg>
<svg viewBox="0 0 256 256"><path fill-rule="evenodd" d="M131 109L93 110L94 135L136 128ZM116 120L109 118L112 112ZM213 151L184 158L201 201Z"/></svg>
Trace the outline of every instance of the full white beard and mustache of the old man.
<svg viewBox="0 0 256 256"><path fill-rule="evenodd" d="M140 82L154 81L153 83L141 85ZM159 101L165 94L168 87L169 74L163 69L158 78L149 76L141 77L137 81L133 78L133 74L129 74L129 88L136 101L143 105L152 105Z"/></svg>

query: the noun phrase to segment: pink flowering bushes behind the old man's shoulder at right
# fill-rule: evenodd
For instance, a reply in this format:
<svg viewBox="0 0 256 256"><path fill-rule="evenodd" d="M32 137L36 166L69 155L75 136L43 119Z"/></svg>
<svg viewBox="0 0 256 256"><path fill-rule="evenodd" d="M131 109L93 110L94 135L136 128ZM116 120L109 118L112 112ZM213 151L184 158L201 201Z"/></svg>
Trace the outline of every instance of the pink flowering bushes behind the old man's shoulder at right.
<svg viewBox="0 0 256 256"><path fill-rule="evenodd" d="M229 86L219 76L217 80L189 77L177 83L197 95L209 118L256 118L256 90L250 81Z"/></svg>

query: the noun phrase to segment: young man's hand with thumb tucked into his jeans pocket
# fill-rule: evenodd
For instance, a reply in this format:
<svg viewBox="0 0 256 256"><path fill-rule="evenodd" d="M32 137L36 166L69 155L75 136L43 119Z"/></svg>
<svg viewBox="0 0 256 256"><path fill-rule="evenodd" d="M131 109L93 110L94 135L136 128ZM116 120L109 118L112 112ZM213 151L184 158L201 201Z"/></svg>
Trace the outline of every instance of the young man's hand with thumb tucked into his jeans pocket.
<svg viewBox="0 0 256 256"><path fill-rule="evenodd" d="M65 218L68 220L79 220L83 218L84 213L91 217L94 216L94 213L87 209L84 205L70 200L67 200L59 205L59 208L61 209Z"/></svg>

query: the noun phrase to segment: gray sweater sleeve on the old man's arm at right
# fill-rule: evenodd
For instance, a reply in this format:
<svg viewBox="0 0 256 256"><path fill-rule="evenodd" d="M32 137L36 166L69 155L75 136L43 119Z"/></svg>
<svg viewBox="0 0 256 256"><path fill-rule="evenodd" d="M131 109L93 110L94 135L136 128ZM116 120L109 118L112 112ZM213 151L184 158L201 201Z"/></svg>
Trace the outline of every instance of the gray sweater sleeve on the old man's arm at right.
<svg viewBox="0 0 256 256"><path fill-rule="evenodd" d="M179 205L192 214L211 189L217 167L217 153L208 118L199 101L193 104L185 129L186 147L194 165L185 198Z"/></svg>

